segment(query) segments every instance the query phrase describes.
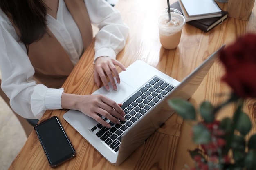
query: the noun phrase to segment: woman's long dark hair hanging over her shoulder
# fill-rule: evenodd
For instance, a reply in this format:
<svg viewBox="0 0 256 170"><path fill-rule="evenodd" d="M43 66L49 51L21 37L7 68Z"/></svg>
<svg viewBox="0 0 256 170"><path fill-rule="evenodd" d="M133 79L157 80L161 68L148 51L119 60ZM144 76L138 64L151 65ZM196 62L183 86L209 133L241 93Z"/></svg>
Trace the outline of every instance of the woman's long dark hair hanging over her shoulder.
<svg viewBox="0 0 256 170"><path fill-rule="evenodd" d="M42 0L0 0L0 8L18 28L24 44L40 40L46 33L47 6Z"/></svg>

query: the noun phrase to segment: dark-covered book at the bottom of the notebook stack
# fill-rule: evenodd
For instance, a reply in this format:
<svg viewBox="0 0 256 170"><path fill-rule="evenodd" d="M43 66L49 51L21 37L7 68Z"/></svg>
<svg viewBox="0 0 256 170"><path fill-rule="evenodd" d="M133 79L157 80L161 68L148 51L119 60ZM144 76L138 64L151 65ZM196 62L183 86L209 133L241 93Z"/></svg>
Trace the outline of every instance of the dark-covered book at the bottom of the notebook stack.
<svg viewBox="0 0 256 170"><path fill-rule="evenodd" d="M179 10L183 14L178 1L171 4L170 7ZM228 14L227 11L222 10L221 11L221 16L219 16L219 17L206 18L206 19L200 19L200 20L192 20L192 21L189 21L187 23L197 27L198 29L201 29L204 32L208 32L209 30L213 29L213 27L222 23L222 21L227 18L227 14Z"/></svg>

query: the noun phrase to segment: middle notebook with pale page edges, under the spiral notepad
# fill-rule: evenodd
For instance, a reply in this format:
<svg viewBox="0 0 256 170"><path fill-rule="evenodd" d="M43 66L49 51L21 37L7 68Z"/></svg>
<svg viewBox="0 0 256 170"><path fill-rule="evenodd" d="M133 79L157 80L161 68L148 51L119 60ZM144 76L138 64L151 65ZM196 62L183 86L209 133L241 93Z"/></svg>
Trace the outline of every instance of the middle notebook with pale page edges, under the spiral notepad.
<svg viewBox="0 0 256 170"><path fill-rule="evenodd" d="M213 18L213 17L220 17L220 13L214 13L214 14L205 14L205 15L196 15L196 16L189 16L188 13L186 12L184 6L182 5L181 0L178 0L178 3L180 4L180 11L183 13L183 16L186 20L186 22L192 21L192 20L200 20L204 18Z"/></svg>

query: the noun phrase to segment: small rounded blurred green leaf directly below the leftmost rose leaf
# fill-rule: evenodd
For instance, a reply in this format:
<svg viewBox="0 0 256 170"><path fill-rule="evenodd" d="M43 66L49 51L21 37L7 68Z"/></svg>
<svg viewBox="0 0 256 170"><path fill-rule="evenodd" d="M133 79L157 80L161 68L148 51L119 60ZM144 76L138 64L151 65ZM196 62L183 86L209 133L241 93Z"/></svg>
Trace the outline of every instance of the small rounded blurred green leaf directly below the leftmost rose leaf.
<svg viewBox="0 0 256 170"><path fill-rule="evenodd" d="M193 141L196 144L211 142L211 132L201 123L193 126Z"/></svg>

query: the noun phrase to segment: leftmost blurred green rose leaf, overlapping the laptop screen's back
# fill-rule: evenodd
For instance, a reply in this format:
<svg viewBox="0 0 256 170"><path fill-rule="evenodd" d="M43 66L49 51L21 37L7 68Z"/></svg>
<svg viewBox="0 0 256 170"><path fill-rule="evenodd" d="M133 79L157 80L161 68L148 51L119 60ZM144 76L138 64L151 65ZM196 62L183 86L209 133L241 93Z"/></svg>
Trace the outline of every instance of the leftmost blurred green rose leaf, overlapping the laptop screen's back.
<svg viewBox="0 0 256 170"><path fill-rule="evenodd" d="M183 119L195 120L195 108L188 101L181 98L173 98L168 101L168 105L173 108Z"/></svg>

